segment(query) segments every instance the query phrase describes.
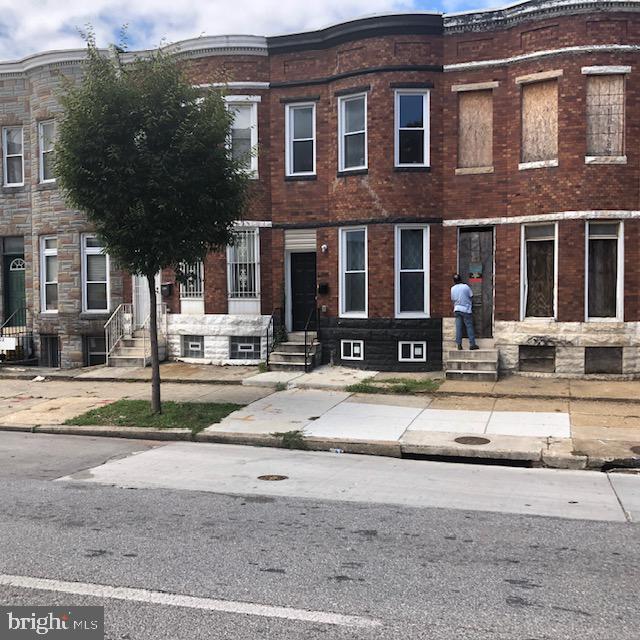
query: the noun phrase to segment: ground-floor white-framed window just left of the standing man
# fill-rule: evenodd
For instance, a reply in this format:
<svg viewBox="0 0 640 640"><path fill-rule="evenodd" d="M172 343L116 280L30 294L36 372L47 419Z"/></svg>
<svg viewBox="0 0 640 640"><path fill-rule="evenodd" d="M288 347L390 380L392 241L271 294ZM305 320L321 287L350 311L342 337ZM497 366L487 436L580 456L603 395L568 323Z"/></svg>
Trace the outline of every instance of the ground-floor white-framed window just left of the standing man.
<svg viewBox="0 0 640 640"><path fill-rule="evenodd" d="M396 227L396 316L429 314L429 236L427 227Z"/></svg>

